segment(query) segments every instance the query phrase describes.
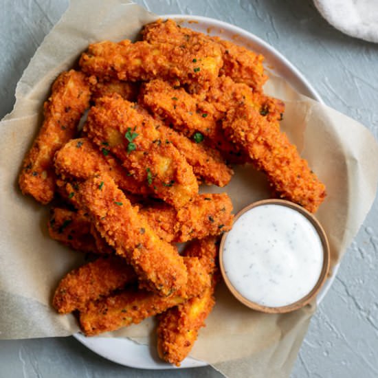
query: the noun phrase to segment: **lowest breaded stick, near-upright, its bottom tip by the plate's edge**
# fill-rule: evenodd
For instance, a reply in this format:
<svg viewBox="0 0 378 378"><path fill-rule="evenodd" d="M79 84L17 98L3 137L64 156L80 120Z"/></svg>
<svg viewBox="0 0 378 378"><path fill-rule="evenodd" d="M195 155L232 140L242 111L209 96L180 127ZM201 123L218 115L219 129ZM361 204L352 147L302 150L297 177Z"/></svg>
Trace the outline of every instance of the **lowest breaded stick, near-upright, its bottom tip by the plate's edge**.
<svg viewBox="0 0 378 378"><path fill-rule="evenodd" d="M209 275L216 272L216 238L193 241L186 248L185 255L198 257ZM157 351L164 361L180 366L182 360L190 353L199 329L205 326L205 319L214 307L216 281L216 277L213 276L212 285L201 296L191 298L159 315Z"/></svg>

